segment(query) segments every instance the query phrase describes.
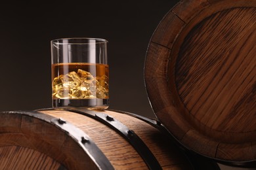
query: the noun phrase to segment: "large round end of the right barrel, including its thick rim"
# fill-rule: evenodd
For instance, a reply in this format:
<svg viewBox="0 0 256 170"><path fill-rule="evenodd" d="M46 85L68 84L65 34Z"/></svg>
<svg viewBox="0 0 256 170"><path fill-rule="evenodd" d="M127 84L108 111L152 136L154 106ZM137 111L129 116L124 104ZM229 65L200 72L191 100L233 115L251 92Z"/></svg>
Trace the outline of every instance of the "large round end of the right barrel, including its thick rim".
<svg viewBox="0 0 256 170"><path fill-rule="evenodd" d="M148 44L144 79L156 116L186 148L256 160L256 1L182 0Z"/></svg>

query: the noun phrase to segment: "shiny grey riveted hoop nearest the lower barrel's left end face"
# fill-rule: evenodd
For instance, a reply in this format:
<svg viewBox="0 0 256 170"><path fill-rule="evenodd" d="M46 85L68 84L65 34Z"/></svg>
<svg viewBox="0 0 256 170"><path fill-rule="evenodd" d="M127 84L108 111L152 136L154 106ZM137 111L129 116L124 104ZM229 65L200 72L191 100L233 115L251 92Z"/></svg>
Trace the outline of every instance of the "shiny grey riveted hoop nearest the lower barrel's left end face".
<svg viewBox="0 0 256 170"><path fill-rule="evenodd" d="M77 128L70 122L63 120L62 118L55 118L48 114L43 114L36 111L18 111L18 112L5 112L9 114L24 114L26 116L31 116L33 118L38 118L49 124L68 132L67 135L72 137L77 143L85 150L87 155L95 161L99 169L114 169L108 158L103 154L103 152L98 148L98 146L93 142L93 140L84 131Z"/></svg>

